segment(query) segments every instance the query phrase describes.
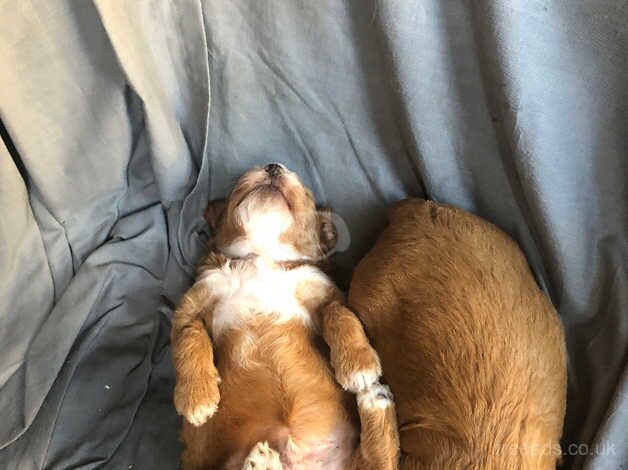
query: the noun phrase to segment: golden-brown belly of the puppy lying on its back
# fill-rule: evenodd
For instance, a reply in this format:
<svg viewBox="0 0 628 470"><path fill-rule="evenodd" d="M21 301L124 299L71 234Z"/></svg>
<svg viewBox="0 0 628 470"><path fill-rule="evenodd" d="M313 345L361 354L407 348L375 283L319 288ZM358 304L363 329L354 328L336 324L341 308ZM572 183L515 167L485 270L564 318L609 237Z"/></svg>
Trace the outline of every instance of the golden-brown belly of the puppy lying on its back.
<svg viewBox="0 0 628 470"><path fill-rule="evenodd" d="M222 401L212 419L231 444L227 468L264 441L285 469L346 468L357 441L352 401L300 321L227 331L217 358Z"/></svg>

